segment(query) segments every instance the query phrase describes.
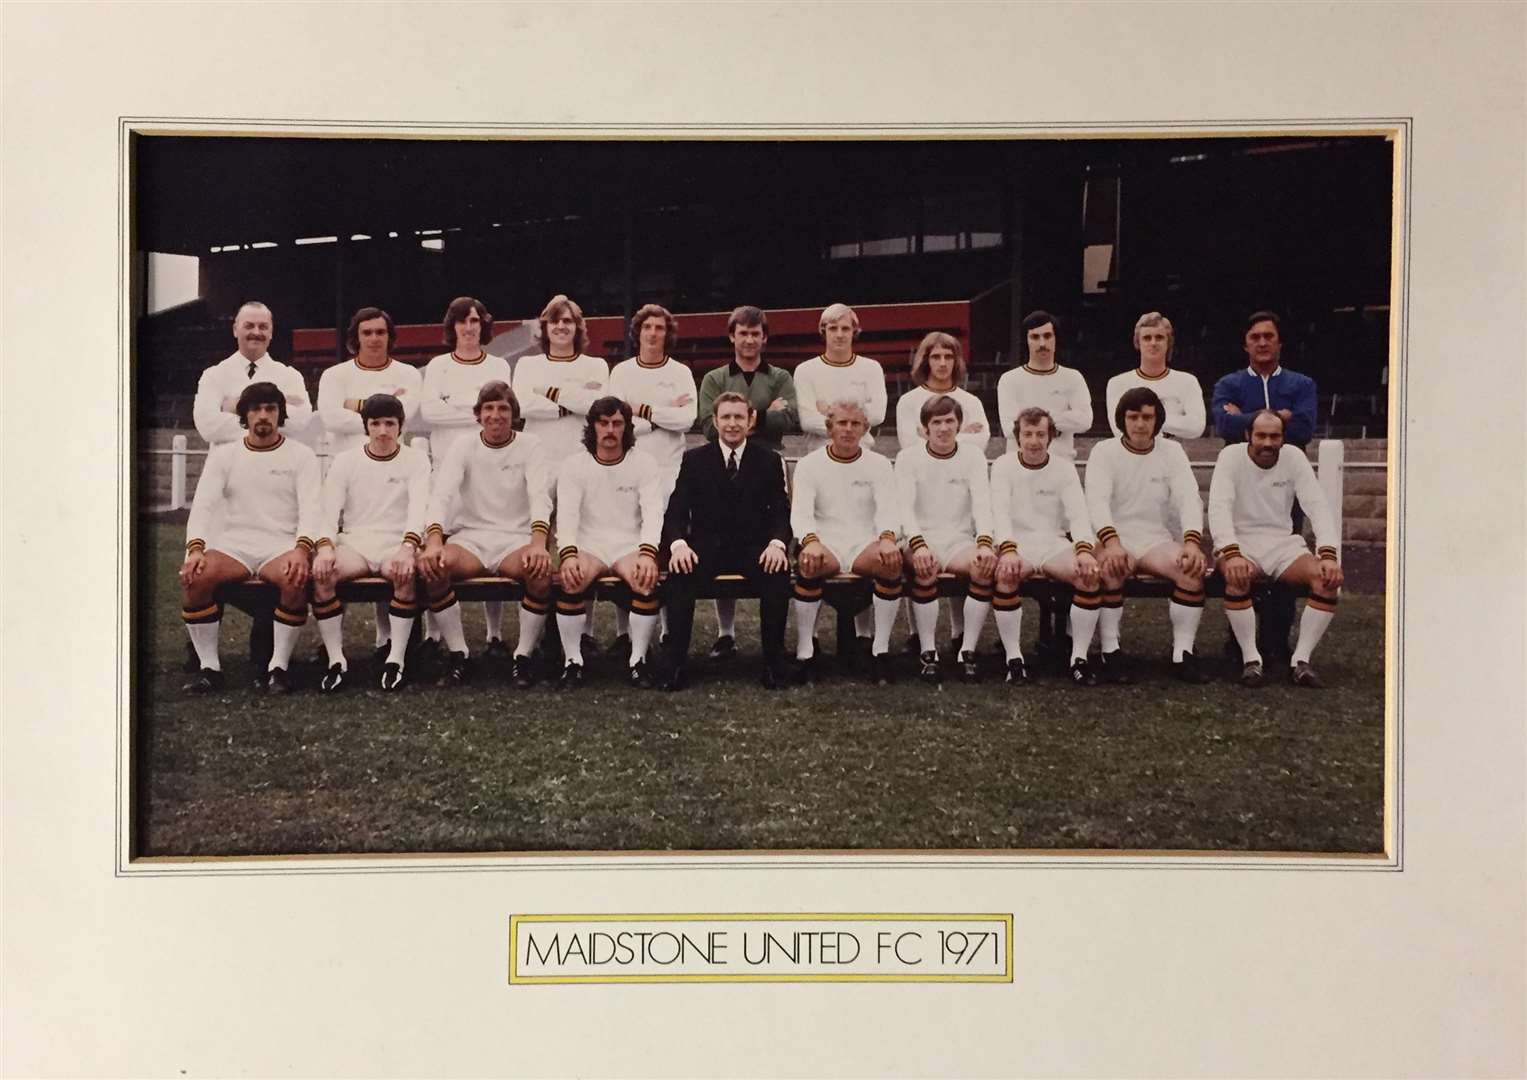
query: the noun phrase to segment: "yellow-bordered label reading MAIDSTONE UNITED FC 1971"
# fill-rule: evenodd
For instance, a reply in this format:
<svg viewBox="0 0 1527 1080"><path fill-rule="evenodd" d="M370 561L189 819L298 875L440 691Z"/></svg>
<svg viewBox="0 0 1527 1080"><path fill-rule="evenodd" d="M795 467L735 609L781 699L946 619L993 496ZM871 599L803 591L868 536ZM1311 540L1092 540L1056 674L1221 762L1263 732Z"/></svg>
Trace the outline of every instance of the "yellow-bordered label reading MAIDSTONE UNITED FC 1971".
<svg viewBox="0 0 1527 1080"><path fill-rule="evenodd" d="M1012 982L1012 915L510 915L508 982Z"/></svg>

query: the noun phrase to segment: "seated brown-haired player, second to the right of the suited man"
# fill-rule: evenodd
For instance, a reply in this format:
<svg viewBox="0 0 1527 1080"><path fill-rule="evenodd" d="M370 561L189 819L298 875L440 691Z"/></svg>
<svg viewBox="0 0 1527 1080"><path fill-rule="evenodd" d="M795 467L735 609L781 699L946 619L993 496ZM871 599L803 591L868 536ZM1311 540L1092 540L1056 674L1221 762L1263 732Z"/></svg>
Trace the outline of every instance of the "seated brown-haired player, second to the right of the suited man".
<svg viewBox="0 0 1527 1080"><path fill-rule="evenodd" d="M959 441L965 416L953 397L930 397L918 416L925 443L896 455L901 496L902 562L912 580L912 620L921 646L919 677L938 683L939 573L965 582L965 632L960 674L977 677L976 642L991 608L997 551L993 541L991 486L986 457Z"/></svg>

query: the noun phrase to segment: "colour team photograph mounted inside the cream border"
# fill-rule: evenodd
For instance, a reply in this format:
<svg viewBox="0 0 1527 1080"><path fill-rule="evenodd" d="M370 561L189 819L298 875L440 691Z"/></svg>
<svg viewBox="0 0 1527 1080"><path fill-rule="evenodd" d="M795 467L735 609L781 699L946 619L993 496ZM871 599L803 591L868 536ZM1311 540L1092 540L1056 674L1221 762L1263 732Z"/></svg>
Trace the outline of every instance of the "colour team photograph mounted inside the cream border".
<svg viewBox="0 0 1527 1080"><path fill-rule="evenodd" d="M125 119L124 854L1393 862L1406 131Z"/></svg>

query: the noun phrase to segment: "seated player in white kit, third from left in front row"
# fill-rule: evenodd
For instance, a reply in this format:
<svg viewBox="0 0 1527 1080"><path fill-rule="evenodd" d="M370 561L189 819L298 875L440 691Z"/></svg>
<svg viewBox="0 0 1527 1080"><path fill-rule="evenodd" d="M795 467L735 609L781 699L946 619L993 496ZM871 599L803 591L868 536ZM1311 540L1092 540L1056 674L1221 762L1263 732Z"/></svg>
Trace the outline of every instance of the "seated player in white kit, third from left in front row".
<svg viewBox="0 0 1527 1080"><path fill-rule="evenodd" d="M551 606L551 495L541 440L515 431L518 405L508 383L484 385L473 406L478 437L452 446L431 484L425 515L429 524L417 567L449 651L441 684L469 678L467 642L452 584L484 574L513 577L525 587L513 678L521 689L534 683L530 654ZM447 538L443 518L450 506L457 513Z"/></svg>

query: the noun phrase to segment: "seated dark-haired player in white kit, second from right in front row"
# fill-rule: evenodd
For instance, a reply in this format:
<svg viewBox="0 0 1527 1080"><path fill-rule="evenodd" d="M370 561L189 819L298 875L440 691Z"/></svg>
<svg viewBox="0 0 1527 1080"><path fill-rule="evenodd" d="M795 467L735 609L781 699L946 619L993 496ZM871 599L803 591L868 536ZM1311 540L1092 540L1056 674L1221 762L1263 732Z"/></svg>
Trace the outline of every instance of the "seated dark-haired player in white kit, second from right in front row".
<svg viewBox="0 0 1527 1080"><path fill-rule="evenodd" d="M1115 422L1122 438L1098 443L1087 458L1087 512L1098 530L1102 614L1098 617L1104 677L1128 681L1119 655L1124 582L1135 573L1168 579L1173 672L1206 683L1193 643L1203 617L1203 503L1182 446L1161 438L1165 409L1154 391L1136 386L1119 397ZM1173 524L1180 524L1180 536Z"/></svg>

